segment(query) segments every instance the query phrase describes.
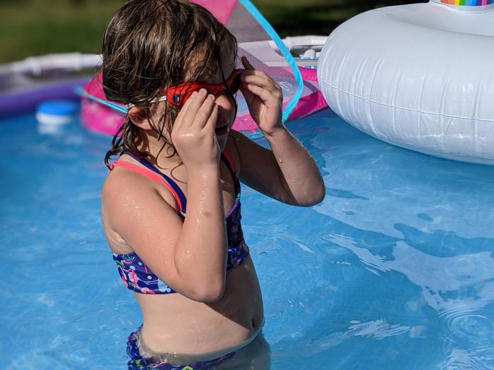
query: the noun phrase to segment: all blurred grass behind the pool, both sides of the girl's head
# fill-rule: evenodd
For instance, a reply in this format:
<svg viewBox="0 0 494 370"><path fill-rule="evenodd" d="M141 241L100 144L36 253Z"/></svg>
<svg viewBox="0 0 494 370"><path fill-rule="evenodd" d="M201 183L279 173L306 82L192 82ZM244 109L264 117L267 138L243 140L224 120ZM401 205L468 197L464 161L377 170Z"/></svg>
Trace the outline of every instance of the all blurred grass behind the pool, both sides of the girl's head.
<svg viewBox="0 0 494 370"><path fill-rule="evenodd" d="M221 1L221 0L217 0ZM124 0L0 0L0 63L27 56L100 53L109 18ZM280 36L329 35L351 16L412 1L253 0Z"/></svg>

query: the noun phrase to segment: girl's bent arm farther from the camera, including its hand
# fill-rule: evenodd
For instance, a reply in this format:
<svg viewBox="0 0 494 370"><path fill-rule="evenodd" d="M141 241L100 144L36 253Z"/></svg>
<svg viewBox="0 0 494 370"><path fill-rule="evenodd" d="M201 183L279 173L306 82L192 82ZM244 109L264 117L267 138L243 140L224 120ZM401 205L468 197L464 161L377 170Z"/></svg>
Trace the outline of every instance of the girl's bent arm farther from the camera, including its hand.
<svg viewBox="0 0 494 370"><path fill-rule="evenodd" d="M282 123L282 92L246 58L241 91L271 150L239 132L231 132L239 154L239 178L246 185L287 204L312 206L325 196L325 186L311 154Z"/></svg>

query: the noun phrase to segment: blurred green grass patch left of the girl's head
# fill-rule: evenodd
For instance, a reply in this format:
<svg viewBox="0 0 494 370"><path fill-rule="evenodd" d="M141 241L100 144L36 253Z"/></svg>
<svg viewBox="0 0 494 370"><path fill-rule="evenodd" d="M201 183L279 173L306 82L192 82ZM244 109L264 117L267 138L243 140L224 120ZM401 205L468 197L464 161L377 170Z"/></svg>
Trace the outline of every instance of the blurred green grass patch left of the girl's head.
<svg viewBox="0 0 494 370"><path fill-rule="evenodd" d="M80 51L99 53L104 28L122 0L1 1L0 62Z"/></svg>

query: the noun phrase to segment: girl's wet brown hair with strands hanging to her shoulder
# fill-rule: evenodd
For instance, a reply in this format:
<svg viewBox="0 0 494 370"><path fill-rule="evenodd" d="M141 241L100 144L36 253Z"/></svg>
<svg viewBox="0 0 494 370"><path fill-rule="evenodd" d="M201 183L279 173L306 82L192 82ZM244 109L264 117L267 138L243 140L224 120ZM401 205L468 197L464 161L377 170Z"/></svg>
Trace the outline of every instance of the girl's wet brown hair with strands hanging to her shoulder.
<svg viewBox="0 0 494 370"><path fill-rule="evenodd" d="M130 0L114 14L103 40L102 86L107 99L143 106L159 139L172 148L162 135L171 132L178 110L166 102L157 123L150 120L151 101L168 87L195 82L210 70L222 70L222 49L236 57L236 39L205 8L186 0ZM223 80L225 76L223 75ZM228 92L228 90L227 90ZM145 157L138 149L143 137L126 116L104 157L128 149Z"/></svg>

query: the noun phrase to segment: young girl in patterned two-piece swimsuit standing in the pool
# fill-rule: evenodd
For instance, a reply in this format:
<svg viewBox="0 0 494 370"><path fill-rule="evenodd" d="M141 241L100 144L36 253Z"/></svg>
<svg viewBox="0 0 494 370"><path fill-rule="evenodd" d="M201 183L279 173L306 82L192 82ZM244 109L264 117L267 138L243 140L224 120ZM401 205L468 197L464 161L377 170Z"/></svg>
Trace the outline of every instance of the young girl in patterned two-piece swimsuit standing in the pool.
<svg viewBox="0 0 494 370"><path fill-rule="evenodd" d="M260 338L239 181L296 206L324 197L313 159L282 124L281 90L235 61L234 37L186 0L128 1L104 35L104 92L128 106L105 158L102 220L143 314L130 369L207 369ZM237 90L271 149L231 129Z"/></svg>

